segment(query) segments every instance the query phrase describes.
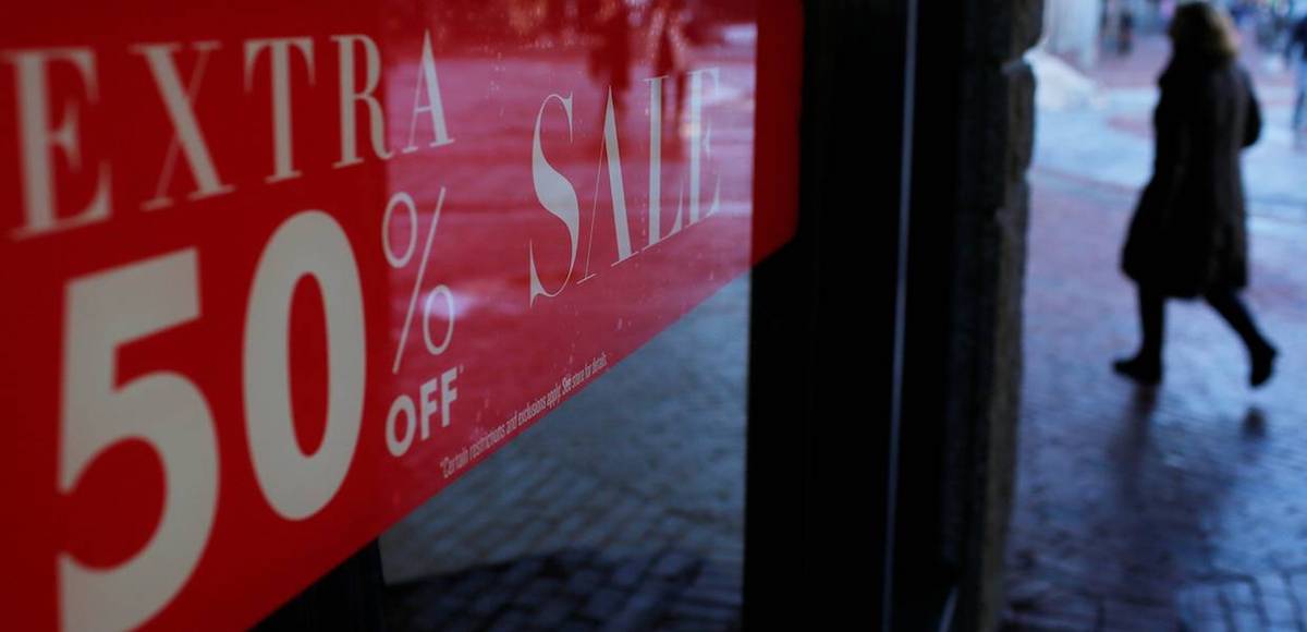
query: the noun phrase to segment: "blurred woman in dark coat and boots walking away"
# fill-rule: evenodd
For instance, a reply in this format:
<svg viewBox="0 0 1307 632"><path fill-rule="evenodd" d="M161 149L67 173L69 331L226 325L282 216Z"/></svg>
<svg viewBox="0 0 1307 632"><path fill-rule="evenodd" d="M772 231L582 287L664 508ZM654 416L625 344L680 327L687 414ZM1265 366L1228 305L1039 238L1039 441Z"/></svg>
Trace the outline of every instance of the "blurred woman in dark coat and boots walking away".
<svg viewBox="0 0 1307 632"><path fill-rule="evenodd" d="M1252 80L1235 63L1238 35L1206 3L1171 21L1172 55L1153 116L1153 179L1140 198L1121 267L1138 285L1144 342L1117 373L1162 379L1166 298L1204 297L1248 348L1249 382L1270 378L1276 348L1239 298L1248 283L1248 234L1239 153L1261 132Z"/></svg>

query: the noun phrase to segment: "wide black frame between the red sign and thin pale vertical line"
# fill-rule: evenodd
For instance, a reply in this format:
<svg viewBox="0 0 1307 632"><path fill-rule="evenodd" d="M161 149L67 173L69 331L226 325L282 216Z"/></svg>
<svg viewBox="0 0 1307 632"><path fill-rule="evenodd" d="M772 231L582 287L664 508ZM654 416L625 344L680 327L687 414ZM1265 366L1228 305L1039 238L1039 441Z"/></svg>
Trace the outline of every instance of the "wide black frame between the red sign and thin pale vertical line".
<svg viewBox="0 0 1307 632"><path fill-rule="evenodd" d="M908 5L805 4L799 228L753 272L746 629L887 612Z"/></svg>

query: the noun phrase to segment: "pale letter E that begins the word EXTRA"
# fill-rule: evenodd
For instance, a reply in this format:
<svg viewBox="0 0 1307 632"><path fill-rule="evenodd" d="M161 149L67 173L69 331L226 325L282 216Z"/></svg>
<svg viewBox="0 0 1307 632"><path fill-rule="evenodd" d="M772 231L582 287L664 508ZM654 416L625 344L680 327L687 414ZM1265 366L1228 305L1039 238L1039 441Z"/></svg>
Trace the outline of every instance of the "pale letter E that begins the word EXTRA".
<svg viewBox="0 0 1307 632"><path fill-rule="evenodd" d="M22 156L22 196L26 224L14 237L33 237L102 221L108 217L108 165L95 169L95 191L81 211L59 217L55 195L55 149L61 149L72 169L81 170L80 109L67 102L58 122L50 120L50 67L72 64L86 86L86 102L99 98L95 55L90 48L41 48L5 54L17 69L18 136Z"/></svg>

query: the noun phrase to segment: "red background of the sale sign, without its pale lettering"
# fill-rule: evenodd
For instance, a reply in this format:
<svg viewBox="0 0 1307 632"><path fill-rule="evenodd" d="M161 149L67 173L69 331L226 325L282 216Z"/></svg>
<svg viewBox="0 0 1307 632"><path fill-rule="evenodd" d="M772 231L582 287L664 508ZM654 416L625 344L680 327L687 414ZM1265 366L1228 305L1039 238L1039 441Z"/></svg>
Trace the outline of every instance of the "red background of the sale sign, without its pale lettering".
<svg viewBox="0 0 1307 632"><path fill-rule="evenodd" d="M732 39L749 33L736 29L724 42L691 48L689 59L690 69L718 68L721 77L721 90L704 106L714 132L703 167L704 204L714 174L721 177L721 211L640 250L647 241L650 156L644 79L652 71L643 44L633 38L631 86L618 118L637 254L617 266L608 173L600 169L603 88L589 72L583 43L557 37L542 46L540 31L521 26L520 16L495 9L512 3L25 3L10 9L0 25L0 52L61 46L95 52L95 102L88 101L86 86L69 67L52 71L51 114L64 102L77 103L81 132L80 162L60 154L55 182L60 208L73 213L94 188L93 167L107 162L112 215L46 236L13 233L24 224L18 96L13 64L0 64L0 283L7 304L0 313L7 338L0 361L0 489L7 514L0 525L0 599L7 627L56 627L58 553L68 551L93 565L120 564L150 538L163 502L159 461L141 441L103 453L72 495L58 491L65 289L72 279L183 249L197 251L199 318L122 347L116 379L122 385L152 372L176 372L208 402L220 461L214 523L193 574L150 625L230 628L254 623L439 492L452 480L442 472L443 458L484 437L563 374L600 355L609 365L618 361L783 243L793 230L796 198L799 3L759 3L758 9L750 3L718 4L721 25L758 25L757 43ZM359 114L363 162L333 169L341 139L329 35L362 33L378 42L389 147L403 147L426 29L435 41L455 143L382 161L371 153L367 119ZM293 35L314 39L315 80L307 80L302 64L291 67L294 157L303 177L267 183L268 63L264 58L246 90L242 46L250 38ZM196 116L223 182L235 192L187 200L195 181L179 160L169 187L176 204L142 211L173 127L145 63L129 46L201 39L220 41L222 48L210 58L195 98ZM183 77L193 61L184 52L178 56ZM566 232L536 199L531 170L536 115L554 93L570 94L575 114L570 143L557 102L545 110L542 130L546 156L580 199L582 254L572 281L582 276L587 247L596 276L532 305L528 245L545 268L546 287L566 276ZM420 139L430 137L429 126L418 130ZM686 181L686 152L685 141L677 147L664 140L664 230ZM413 328L404 366L393 377L391 360L417 263L399 271L387 264L383 211L393 192L412 194L421 216L421 251L442 187L447 199L423 290L439 283L452 289L456 330L448 351L430 356ZM278 225L305 209L325 211L349 237L363 289L367 377L348 476L320 512L288 521L269 508L251 465L242 345L260 253ZM405 228L392 226L392 236L403 241ZM314 284L301 283L290 326L295 424L301 449L310 454L322 441L327 406L328 351L318 294ZM422 381L451 368L463 369L451 425L433 428L429 441L392 457L384 440L391 402L401 393L416 396Z"/></svg>

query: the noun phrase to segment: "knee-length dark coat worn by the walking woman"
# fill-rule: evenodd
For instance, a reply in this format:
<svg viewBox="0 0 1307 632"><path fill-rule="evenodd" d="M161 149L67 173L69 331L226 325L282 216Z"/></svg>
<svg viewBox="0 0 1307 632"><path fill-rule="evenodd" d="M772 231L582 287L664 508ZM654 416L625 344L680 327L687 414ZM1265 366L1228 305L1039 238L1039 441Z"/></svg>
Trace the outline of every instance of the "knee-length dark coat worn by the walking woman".
<svg viewBox="0 0 1307 632"><path fill-rule="evenodd" d="M1166 296L1248 284L1239 153L1261 132L1248 73L1231 61L1176 59L1153 115L1157 154L1121 256L1125 273Z"/></svg>

